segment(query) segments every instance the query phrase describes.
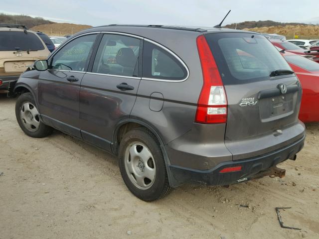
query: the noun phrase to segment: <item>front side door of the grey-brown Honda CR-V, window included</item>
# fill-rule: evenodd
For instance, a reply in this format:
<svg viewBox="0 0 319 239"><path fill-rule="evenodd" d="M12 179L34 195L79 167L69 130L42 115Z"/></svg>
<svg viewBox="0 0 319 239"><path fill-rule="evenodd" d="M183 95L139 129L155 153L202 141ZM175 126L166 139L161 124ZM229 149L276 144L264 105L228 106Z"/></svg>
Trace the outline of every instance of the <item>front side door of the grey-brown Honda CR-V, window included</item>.
<svg viewBox="0 0 319 239"><path fill-rule="evenodd" d="M79 94L97 34L74 38L53 54L39 75L38 102L43 121L81 138Z"/></svg>

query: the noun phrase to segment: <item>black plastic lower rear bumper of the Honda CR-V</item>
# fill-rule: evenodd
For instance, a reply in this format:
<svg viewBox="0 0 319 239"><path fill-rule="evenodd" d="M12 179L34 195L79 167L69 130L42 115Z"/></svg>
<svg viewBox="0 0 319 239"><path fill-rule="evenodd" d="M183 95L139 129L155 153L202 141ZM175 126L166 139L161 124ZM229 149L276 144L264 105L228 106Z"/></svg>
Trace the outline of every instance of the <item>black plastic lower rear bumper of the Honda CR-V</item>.
<svg viewBox="0 0 319 239"><path fill-rule="evenodd" d="M209 170L196 170L170 165L170 172L178 184L195 181L207 185L222 186L244 182L280 162L294 158L295 154L304 147L305 137L306 135L294 143L273 152L244 160L222 162ZM237 166L241 166L242 170L220 173L224 168Z"/></svg>

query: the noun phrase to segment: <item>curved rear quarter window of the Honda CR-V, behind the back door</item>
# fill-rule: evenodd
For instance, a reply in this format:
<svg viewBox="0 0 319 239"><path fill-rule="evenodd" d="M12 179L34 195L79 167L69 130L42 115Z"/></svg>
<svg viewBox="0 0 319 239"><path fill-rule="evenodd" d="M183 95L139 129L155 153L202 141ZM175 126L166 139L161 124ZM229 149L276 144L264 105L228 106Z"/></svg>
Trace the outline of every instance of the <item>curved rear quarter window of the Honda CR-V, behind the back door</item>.
<svg viewBox="0 0 319 239"><path fill-rule="evenodd" d="M185 67L169 52L145 41L143 49L143 77L163 80L183 80Z"/></svg>

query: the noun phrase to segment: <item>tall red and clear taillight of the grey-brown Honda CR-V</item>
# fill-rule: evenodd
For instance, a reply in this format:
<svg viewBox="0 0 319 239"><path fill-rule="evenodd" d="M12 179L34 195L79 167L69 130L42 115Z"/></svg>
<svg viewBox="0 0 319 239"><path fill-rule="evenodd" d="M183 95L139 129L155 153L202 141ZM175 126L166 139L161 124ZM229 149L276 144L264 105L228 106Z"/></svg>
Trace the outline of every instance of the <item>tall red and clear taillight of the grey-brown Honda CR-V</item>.
<svg viewBox="0 0 319 239"><path fill-rule="evenodd" d="M227 97L223 82L204 35L196 39L204 84L201 89L195 122L225 123L227 121Z"/></svg>

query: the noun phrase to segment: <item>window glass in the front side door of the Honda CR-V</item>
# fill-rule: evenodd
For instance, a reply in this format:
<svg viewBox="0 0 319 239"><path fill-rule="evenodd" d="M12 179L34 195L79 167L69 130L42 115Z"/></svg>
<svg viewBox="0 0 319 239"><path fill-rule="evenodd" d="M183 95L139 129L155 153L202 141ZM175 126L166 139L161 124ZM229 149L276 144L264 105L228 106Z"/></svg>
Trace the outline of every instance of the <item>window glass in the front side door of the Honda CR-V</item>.
<svg viewBox="0 0 319 239"><path fill-rule="evenodd" d="M51 58L51 69L85 71L96 34L81 36L69 42Z"/></svg>

